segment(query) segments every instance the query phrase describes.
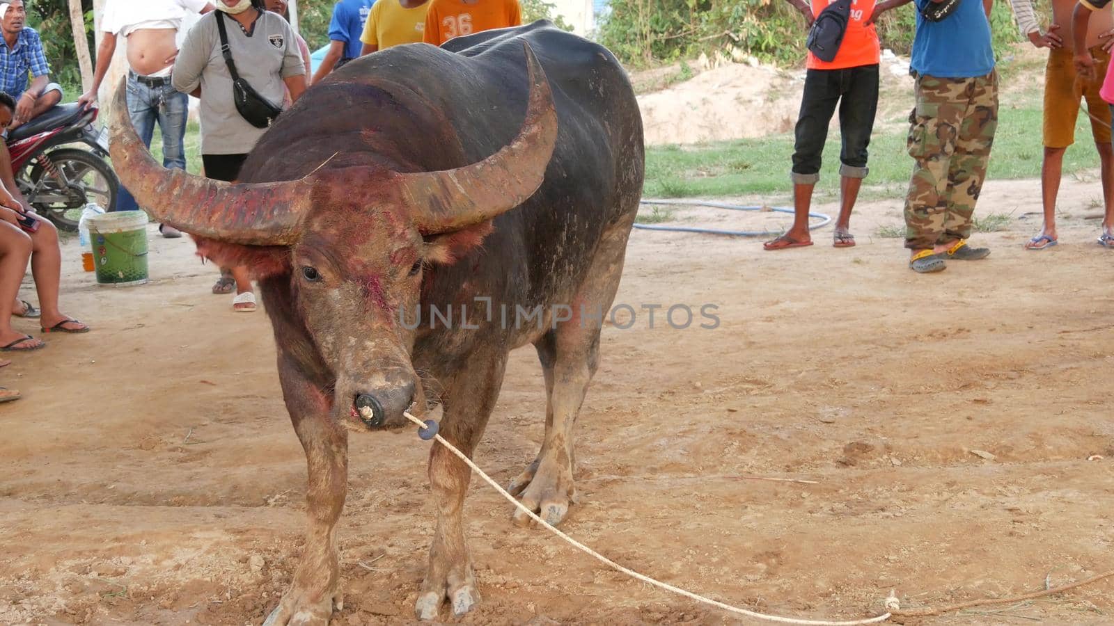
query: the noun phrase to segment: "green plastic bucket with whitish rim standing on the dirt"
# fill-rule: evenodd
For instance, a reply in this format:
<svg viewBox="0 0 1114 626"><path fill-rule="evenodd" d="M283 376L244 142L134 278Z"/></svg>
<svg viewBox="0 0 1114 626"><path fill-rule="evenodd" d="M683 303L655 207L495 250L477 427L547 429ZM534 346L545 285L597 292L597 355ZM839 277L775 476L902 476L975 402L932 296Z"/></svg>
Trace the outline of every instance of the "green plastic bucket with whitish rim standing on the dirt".
<svg viewBox="0 0 1114 626"><path fill-rule="evenodd" d="M147 214L119 211L88 219L97 283L141 285L147 282Z"/></svg>

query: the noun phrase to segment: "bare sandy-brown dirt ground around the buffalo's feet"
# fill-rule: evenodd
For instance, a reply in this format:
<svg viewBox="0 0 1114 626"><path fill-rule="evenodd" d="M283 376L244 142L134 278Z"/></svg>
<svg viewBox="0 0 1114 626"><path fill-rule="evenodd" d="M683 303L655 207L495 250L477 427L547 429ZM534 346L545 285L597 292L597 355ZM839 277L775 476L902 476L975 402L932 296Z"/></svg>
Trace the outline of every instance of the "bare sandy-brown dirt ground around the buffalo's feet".
<svg viewBox="0 0 1114 626"><path fill-rule="evenodd" d="M976 236L989 260L931 276L906 267L901 239L872 235L899 222L898 199L860 208L853 250L833 250L830 226L778 253L635 232L617 303L638 315L605 330L565 530L667 583L813 618L876 614L891 589L910 608L1114 567L1114 253L1087 218L1097 187L1065 180L1062 243L1033 253L1038 184L989 184L980 213L1024 218ZM150 245L152 282L117 288L67 243L63 304L95 331L50 335L0 370L25 393L0 407L0 624L260 624L295 567L305 466L265 314L211 295L215 271L188 239L153 232ZM721 323L677 330L659 310L651 329L649 304L714 304ZM539 366L520 350L479 464L509 481L544 414ZM408 429L350 446L334 622L412 623L433 529L429 444ZM466 513L483 601L465 624L735 623L515 527L479 480ZM907 623L1112 615L1108 579Z"/></svg>

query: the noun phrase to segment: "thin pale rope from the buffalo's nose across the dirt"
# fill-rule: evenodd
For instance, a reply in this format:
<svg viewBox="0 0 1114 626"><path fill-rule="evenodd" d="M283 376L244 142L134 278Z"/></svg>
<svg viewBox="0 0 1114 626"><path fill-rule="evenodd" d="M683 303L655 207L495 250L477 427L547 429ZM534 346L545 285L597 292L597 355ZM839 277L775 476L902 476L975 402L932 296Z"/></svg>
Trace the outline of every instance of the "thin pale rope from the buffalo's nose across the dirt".
<svg viewBox="0 0 1114 626"><path fill-rule="evenodd" d="M410 420L411 422L418 424L418 428L420 428L421 430L423 430L423 431L427 430L426 422L423 422L420 419L416 418L414 415L410 414L409 411L405 411L402 414L405 415L405 418L408 420ZM642 580L643 583L653 585L653 586L655 586L655 587L657 587L659 589L665 589L666 591L672 591L674 594L684 596L684 597L686 597L688 599L696 600L698 603L706 604L709 606L714 606L716 608L726 610L729 613L734 613L736 615L744 615L746 617L754 617L756 619L765 619L768 622L778 622L778 623L781 623L781 624L803 624L805 626L857 626L859 624L879 624L879 623L886 622L890 617L928 617L928 616L931 616L931 615L940 615L940 614L944 614L944 613L952 613L952 612L956 612L956 610L962 610L965 608L974 608L974 607L977 607L977 606L996 605L996 604L1012 604L1012 603L1018 603L1018 601L1022 601L1022 600L1030 600L1030 599L1034 599L1034 598L1040 598L1040 597L1045 597L1045 596L1052 596L1052 595L1056 595L1056 594L1063 594L1064 591L1068 591L1068 590L1075 589L1077 587L1083 587L1084 585L1089 585L1092 583L1097 583L1098 580L1102 580L1104 578L1110 578L1111 576L1114 576L1114 569L1112 569L1110 571L1105 571L1105 573L1100 574L1097 576L1092 576L1091 578L1085 578L1083 580L1071 583L1068 585L1064 585L1063 587L1056 587L1056 588L1053 588L1053 589L1045 589L1044 591L1034 591L1032 594L1022 594L1022 595L1012 596L1012 597L1008 597L1008 598L987 598L987 599L981 599L981 600L970 600L970 601L966 601L966 603L952 604L952 605L941 606L941 607L937 607L937 608L926 607L926 608L911 608L911 609L906 609L906 610L901 610L901 605L898 601L898 598L893 595L893 591L890 591L890 596L888 598L886 598L886 609L887 609L887 613L883 613L882 615L879 615L877 617L869 617L869 618L866 618L866 619L853 619L853 620L848 620L848 622L828 622L828 620L822 620L822 619L797 619L797 618L793 618L793 617L781 617L781 616L778 616L778 615L766 615L764 613L755 613L753 610L746 610L745 608L739 608L739 607L735 607L735 606L723 604L721 601L713 600L711 598L705 598L704 596L694 594L692 591L687 591L687 590L682 589L680 587L674 587L673 585L670 585L667 583L662 583L662 581L655 580L655 579L653 579L653 578L651 578L648 576L644 576L642 574L638 574L637 571L633 570L633 569L623 567L622 565L613 561L612 559L605 557L604 555L597 552L596 550L593 550L592 548L585 546L584 544L577 541L576 539L573 539L571 537L569 537L565 532L563 532L563 531L558 530L557 528L550 526L548 521L546 521L546 520L541 519L540 517L538 517L538 515L536 512L534 512L530 509L526 508L521 502L518 501L518 498L515 498L514 496L511 496L510 493L508 493L506 489L504 489L502 487L500 487L499 483L497 483L495 480L491 479L491 477L489 477L487 473L485 473L483 470L481 470L476 463L473 463L471 459L469 459L467 456L465 456L463 452L461 452L460 450L457 450L456 446L453 446L452 443L449 443L448 441L446 441L444 438L442 438L440 434L437 434L436 433L437 432L436 429L433 429L433 432L434 432L434 434L433 434L432 439L434 441L437 441L441 446L444 446L444 448L447 450L449 450L458 459L460 459L461 461L463 461L469 468L471 468L472 471L475 471L477 475L479 475L480 478L482 478L488 485L490 485L492 489L495 489L496 491L498 491L499 495L502 496L508 502L515 505L515 507L517 507L520 511L522 511L526 515L530 516L530 519L532 519L534 521L540 524L546 530L548 530L548 531L553 532L554 535L560 537L565 541L568 541L575 548L577 548L580 551L585 552L586 555L595 558L599 563L603 563L604 565L606 565L607 567L610 567L612 569L615 569L617 571L622 571L623 574L626 574L627 576L629 576L632 578L635 578L637 580ZM423 436L422 438L426 439L427 436Z"/></svg>

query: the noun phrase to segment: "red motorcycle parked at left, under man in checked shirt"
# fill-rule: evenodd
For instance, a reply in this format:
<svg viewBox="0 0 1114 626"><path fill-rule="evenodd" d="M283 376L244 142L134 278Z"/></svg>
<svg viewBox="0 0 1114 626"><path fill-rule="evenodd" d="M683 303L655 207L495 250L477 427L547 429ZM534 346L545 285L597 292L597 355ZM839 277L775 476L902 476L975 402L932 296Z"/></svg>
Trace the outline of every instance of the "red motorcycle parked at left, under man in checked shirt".
<svg viewBox="0 0 1114 626"><path fill-rule="evenodd" d="M120 182L105 160L108 128L94 126L97 114L96 107L58 105L8 133L16 185L36 213L62 231L77 231L88 203L105 211L116 206ZM67 144L89 149L59 147Z"/></svg>

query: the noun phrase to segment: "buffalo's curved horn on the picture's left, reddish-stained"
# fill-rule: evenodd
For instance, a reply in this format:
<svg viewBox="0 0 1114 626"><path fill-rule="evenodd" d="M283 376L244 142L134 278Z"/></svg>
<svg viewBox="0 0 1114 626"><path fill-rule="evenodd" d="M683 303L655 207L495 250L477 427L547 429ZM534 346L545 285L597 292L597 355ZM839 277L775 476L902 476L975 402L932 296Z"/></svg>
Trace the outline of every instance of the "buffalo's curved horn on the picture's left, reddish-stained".
<svg viewBox="0 0 1114 626"><path fill-rule="evenodd" d="M212 239L291 245L310 208L312 180L231 184L162 167L128 117L126 79L113 100L109 154L120 182L163 224Z"/></svg>

